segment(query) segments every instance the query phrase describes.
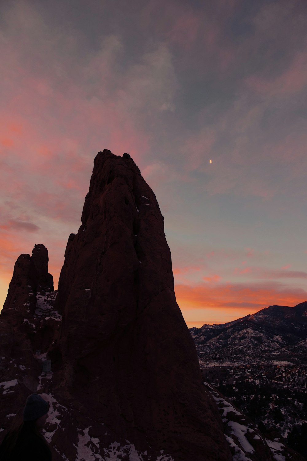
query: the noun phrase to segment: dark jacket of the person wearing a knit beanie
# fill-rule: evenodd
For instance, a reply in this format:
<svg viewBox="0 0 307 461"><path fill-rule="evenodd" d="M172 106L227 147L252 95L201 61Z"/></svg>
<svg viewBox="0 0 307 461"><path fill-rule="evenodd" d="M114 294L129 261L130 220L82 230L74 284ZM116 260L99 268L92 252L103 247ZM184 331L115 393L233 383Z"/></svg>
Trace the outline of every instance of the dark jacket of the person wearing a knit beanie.
<svg viewBox="0 0 307 461"><path fill-rule="evenodd" d="M9 433L0 445L0 461L51 461L47 443L33 431L22 431L17 438L11 455L5 455Z"/></svg>

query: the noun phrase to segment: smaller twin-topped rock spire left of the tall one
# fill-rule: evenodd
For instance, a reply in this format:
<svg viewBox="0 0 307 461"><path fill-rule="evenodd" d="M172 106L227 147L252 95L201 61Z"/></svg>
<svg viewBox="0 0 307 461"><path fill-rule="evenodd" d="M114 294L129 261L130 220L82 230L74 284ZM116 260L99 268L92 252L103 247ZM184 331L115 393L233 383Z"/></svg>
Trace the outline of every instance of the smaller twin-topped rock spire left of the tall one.
<svg viewBox="0 0 307 461"><path fill-rule="evenodd" d="M43 290L48 290L47 296ZM41 349L46 351L50 346L59 327L58 321L42 315L52 310L56 295L52 290L48 251L44 245L35 245L32 256L18 257L0 313L0 429L3 434L14 417L21 416L18 412L22 412L27 396L40 385L42 361L37 357Z"/></svg>

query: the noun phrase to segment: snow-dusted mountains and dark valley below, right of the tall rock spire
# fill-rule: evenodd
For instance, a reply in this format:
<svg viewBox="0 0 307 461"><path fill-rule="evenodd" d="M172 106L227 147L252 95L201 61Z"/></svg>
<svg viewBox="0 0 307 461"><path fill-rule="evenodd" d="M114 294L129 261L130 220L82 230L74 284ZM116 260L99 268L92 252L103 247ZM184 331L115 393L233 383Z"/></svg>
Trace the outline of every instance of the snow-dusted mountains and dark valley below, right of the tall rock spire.
<svg viewBox="0 0 307 461"><path fill-rule="evenodd" d="M204 381L307 458L307 302L190 331Z"/></svg>

